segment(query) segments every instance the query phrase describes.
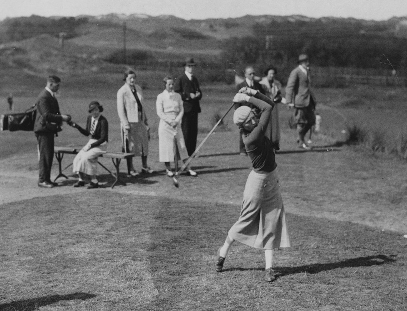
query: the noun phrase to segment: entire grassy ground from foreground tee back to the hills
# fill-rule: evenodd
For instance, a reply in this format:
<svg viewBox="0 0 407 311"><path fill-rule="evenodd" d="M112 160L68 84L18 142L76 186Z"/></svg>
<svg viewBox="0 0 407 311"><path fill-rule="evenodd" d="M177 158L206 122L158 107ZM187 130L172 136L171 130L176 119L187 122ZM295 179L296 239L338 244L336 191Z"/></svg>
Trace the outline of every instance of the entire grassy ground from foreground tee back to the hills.
<svg viewBox="0 0 407 311"><path fill-rule="evenodd" d="M276 252L280 277L269 284L263 281L263 252L242 244L232 247L224 272L212 266L239 215L250 171L249 160L236 153L232 114L193 161L198 178L182 175L176 189L164 175L155 114L164 75L139 74L153 130L149 162L158 173L139 179L123 174L126 186L111 190L112 177L101 172L100 190L71 187L74 176L52 190L38 189L33 133L0 133L0 192L6 198L0 205L0 310L406 309L407 243L401 233L407 230L407 163L343 145L341 132L356 122L402 132L403 91L383 89L375 97L358 87L316 90L323 123L311 152L298 149L288 127L291 110L280 107L276 160L292 247ZM20 87L24 81L15 85L19 111L40 91L37 81ZM112 151L120 150L115 95L122 83L113 73L66 78L59 99L61 112L82 124L88 104L98 99ZM203 93L199 141L214 114L229 108L234 86L203 86ZM57 145L85 144L79 135L64 127Z"/></svg>

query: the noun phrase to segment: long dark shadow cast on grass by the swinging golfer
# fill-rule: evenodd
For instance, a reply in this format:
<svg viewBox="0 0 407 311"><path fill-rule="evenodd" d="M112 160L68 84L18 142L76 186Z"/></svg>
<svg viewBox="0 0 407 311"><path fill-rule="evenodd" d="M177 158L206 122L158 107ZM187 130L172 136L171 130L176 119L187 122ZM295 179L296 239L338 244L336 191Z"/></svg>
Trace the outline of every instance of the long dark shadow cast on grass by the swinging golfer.
<svg viewBox="0 0 407 311"><path fill-rule="evenodd" d="M395 262L396 260L392 258L393 256L386 255L376 255L367 257L357 257L346 259L338 262L331 263L315 263L313 265L304 265L298 267L276 267L274 270L278 272L279 276L285 276L290 274L307 272L310 274L319 273L322 271L334 270L337 268L350 268L350 267L370 267L370 266L380 266L384 263ZM264 270L263 268L229 268L223 271L247 271L247 270Z"/></svg>

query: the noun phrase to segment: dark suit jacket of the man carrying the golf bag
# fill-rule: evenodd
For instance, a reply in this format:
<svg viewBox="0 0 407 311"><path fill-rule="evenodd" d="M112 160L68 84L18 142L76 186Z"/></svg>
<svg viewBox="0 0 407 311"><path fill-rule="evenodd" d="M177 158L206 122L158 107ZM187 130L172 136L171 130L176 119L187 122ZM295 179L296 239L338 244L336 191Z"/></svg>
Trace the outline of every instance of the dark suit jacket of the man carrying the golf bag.
<svg viewBox="0 0 407 311"><path fill-rule="evenodd" d="M42 90L37 97L37 115L35 117L34 132L35 133L57 133L57 130L50 130L44 122L56 123L61 125L62 116L59 111L57 99L46 90Z"/></svg>

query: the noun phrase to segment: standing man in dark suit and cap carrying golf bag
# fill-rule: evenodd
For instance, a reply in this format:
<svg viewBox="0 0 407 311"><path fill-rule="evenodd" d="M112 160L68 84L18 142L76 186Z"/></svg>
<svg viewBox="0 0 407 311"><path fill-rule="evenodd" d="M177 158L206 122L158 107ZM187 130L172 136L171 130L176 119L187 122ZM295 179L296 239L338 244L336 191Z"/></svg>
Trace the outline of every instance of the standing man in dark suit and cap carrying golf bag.
<svg viewBox="0 0 407 311"><path fill-rule="evenodd" d="M34 133L38 142L39 155L38 186L42 188L58 186L50 179L54 159L54 137L62 130L62 121L69 122L71 119L69 114L61 114L55 98L60 83L59 77L49 76L45 89L37 97Z"/></svg>

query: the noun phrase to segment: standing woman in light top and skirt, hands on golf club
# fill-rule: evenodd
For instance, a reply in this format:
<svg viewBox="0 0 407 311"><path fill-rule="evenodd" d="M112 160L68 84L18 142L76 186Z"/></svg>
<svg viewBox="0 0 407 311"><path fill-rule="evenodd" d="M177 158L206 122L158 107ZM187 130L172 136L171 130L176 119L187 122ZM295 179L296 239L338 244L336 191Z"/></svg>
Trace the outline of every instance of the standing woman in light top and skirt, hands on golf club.
<svg viewBox="0 0 407 311"><path fill-rule="evenodd" d="M174 92L174 80L171 77L164 78L164 91L157 96L157 115L160 117L158 125L158 147L160 162L164 162L166 173L173 177L170 162L188 158L188 152L181 130L184 105L181 95ZM175 158L175 155L177 157ZM190 176L197 176L188 166L186 172ZM176 173L176 172L175 172Z"/></svg>

